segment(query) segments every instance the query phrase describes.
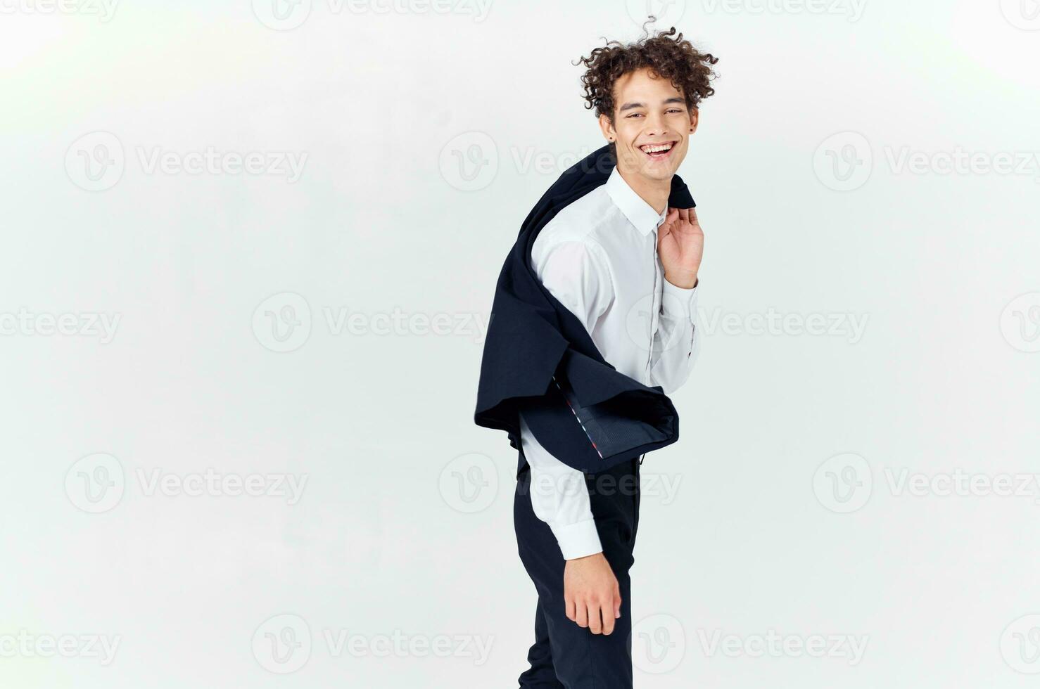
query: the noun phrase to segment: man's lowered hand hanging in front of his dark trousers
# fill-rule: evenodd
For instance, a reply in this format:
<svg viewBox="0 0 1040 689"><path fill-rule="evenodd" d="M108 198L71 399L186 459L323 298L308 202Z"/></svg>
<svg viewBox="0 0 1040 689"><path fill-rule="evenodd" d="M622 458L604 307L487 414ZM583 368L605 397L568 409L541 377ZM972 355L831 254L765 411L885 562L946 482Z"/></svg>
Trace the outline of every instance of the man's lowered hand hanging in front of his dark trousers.
<svg viewBox="0 0 1040 689"><path fill-rule="evenodd" d="M609 634L621 616L621 587L602 553L564 566L564 601L567 618L593 634Z"/></svg>

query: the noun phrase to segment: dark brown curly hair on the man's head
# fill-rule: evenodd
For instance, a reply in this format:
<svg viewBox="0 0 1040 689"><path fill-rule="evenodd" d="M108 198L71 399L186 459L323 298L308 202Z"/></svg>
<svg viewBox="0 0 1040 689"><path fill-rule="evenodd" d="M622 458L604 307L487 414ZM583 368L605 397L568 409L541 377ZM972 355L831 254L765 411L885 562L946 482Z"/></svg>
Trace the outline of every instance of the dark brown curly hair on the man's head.
<svg viewBox="0 0 1040 689"><path fill-rule="evenodd" d="M649 68L655 76L670 79L685 97L686 107L693 110L714 94L711 80L718 75L711 67L718 61L711 53L702 53L684 41L682 33L676 35L673 26L653 35L646 33L627 45L610 41L574 64L582 63L587 69L581 76L586 108L595 108L597 116L605 114L614 122L614 85L622 76Z"/></svg>

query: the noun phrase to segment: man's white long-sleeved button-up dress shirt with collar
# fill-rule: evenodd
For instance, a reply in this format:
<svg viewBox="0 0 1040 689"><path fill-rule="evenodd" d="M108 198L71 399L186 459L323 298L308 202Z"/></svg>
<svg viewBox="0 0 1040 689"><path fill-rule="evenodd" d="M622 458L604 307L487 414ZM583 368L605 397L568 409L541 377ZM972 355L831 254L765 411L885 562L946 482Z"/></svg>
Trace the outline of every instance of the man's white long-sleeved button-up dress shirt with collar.
<svg viewBox="0 0 1040 689"><path fill-rule="evenodd" d="M539 280L584 325L614 368L666 393L690 376L700 349L697 288L665 280L655 211L615 167L606 184L564 208L539 233L531 262ZM552 456L520 417L530 466L531 506L564 559L602 552L584 474Z"/></svg>

